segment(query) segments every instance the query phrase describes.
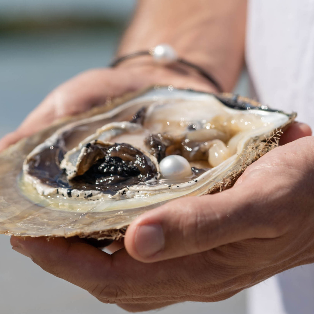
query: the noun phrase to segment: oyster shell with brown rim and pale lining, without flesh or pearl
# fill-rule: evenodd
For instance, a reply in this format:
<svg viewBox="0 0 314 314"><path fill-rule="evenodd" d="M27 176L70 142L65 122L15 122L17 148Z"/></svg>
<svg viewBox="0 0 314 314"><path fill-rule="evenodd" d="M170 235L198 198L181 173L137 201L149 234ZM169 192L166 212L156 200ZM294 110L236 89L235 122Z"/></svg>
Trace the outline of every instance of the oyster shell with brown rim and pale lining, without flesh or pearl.
<svg viewBox="0 0 314 314"><path fill-rule="evenodd" d="M44 151L62 146L65 155L60 167L67 169L68 179L73 178L89 143L101 141L110 145L114 143L113 139L124 134L131 134L135 141L138 132L143 131L145 136L152 132L152 129L146 130L128 122L130 116L143 107L147 110L148 128L158 125L164 112L168 125L178 119L180 123L187 120L194 123L200 119L207 123L221 112L249 115L261 123L257 122L256 127L241 132L237 137L236 151L229 158L196 178L187 178L180 183L160 180L156 158L143 147L138 149L156 167L158 175L152 180L160 180L158 184L140 182L111 194L72 190L69 196L67 187L62 190L44 181L39 182L29 171L30 160L36 161L36 156ZM269 138L294 118L294 113L271 110L246 98L165 87L152 88L136 97L116 100L84 116L58 122L0 154L0 233L119 238L133 219L149 209L171 199L215 193L231 187L248 165L276 146L277 140ZM189 133L190 138L195 134L204 136L200 131ZM214 132L215 137L223 136ZM139 139L138 142L143 141L143 137ZM87 197L90 194L93 197Z"/></svg>

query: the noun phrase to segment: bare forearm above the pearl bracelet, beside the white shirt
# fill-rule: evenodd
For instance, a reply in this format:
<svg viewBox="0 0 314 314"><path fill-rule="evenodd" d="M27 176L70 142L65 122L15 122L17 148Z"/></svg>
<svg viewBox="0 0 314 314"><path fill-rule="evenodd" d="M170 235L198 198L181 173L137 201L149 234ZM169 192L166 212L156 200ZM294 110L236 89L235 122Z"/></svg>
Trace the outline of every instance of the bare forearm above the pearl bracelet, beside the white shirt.
<svg viewBox="0 0 314 314"><path fill-rule="evenodd" d="M169 43L228 91L244 61L246 0L139 0L118 55Z"/></svg>

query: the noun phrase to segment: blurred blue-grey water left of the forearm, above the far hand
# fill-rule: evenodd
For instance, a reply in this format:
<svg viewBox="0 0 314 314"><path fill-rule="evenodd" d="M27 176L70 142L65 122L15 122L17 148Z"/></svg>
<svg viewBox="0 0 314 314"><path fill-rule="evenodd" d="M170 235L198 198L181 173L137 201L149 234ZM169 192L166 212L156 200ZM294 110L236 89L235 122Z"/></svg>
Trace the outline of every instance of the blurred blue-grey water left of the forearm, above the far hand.
<svg viewBox="0 0 314 314"><path fill-rule="evenodd" d="M106 66L120 32L83 29L0 36L0 136L13 131L65 80Z"/></svg>

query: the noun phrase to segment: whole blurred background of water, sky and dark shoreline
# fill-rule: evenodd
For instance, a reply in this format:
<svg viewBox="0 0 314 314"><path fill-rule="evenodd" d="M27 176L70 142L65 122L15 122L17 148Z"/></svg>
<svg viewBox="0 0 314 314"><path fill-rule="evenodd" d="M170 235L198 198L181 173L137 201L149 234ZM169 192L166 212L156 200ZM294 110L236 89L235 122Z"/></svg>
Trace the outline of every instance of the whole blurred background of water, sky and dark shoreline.
<svg viewBox="0 0 314 314"><path fill-rule="evenodd" d="M136 0L0 0L0 137L55 87L112 60ZM236 92L248 95L246 73ZM45 273L0 235L1 314L118 314L86 291ZM160 314L245 314L246 293L218 303L186 302ZM154 313L151 311L150 313Z"/></svg>

